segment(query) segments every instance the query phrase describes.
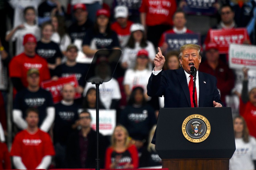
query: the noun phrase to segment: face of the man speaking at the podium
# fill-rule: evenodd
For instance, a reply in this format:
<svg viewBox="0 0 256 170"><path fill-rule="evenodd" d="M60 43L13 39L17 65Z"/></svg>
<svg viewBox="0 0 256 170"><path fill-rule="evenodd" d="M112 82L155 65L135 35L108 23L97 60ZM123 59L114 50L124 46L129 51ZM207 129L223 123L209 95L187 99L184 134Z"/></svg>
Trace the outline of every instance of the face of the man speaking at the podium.
<svg viewBox="0 0 256 170"><path fill-rule="evenodd" d="M196 49L185 49L182 52L182 56L179 62L185 72L190 74L190 68L192 66L198 70L199 64L201 63L201 57L199 58L199 53Z"/></svg>

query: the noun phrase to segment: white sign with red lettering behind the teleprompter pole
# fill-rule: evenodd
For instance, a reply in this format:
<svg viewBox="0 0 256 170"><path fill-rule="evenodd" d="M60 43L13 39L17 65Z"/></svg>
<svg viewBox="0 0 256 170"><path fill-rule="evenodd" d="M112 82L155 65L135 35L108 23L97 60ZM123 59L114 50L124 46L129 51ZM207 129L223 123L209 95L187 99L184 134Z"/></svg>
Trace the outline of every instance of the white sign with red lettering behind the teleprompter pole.
<svg viewBox="0 0 256 170"><path fill-rule="evenodd" d="M88 109L92 115L91 127L96 131L96 110ZM102 135L112 135L116 125L116 110L99 110L99 128Z"/></svg>

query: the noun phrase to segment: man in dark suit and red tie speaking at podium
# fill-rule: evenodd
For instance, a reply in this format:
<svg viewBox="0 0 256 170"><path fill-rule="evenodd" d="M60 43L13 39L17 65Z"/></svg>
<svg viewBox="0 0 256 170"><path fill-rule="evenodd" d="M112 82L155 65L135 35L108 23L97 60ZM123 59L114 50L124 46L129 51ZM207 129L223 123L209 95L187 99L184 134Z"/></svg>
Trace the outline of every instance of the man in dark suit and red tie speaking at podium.
<svg viewBox="0 0 256 170"><path fill-rule="evenodd" d="M201 47L195 44L183 45L179 54L182 67L178 70L162 71L165 58L158 47L159 52L154 58L155 68L148 80L148 96L164 95L165 108L191 107L191 103L193 107L193 98L190 97L189 91L190 68L194 66L198 70L201 63L200 49ZM216 83L214 76L197 71L195 96L198 107L222 107Z"/></svg>

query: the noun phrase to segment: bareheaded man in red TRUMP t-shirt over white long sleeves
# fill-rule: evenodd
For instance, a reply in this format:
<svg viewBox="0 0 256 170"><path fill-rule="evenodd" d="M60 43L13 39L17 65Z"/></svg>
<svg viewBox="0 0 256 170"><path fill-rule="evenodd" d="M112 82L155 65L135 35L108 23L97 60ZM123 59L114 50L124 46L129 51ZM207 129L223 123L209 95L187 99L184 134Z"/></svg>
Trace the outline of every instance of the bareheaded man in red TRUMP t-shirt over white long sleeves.
<svg viewBox="0 0 256 170"><path fill-rule="evenodd" d="M19 132L13 141L11 156L16 169L47 169L55 155L48 133L38 128L39 111L26 110L27 129Z"/></svg>

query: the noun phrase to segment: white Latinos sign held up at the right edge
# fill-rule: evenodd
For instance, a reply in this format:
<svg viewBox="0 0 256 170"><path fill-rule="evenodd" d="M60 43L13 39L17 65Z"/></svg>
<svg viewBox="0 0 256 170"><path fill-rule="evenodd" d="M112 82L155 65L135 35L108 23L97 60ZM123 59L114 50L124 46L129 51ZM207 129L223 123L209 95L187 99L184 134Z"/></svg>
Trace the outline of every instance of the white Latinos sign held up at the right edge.
<svg viewBox="0 0 256 170"><path fill-rule="evenodd" d="M256 70L256 46L230 44L229 67L239 69L248 67Z"/></svg>

